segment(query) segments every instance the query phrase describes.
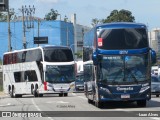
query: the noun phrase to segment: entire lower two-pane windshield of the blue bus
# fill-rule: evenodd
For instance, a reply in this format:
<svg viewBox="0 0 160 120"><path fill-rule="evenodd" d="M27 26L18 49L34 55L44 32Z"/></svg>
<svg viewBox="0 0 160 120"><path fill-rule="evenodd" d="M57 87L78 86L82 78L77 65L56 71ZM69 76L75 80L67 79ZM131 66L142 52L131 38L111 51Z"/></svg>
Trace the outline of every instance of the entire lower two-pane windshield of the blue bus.
<svg viewBox="0 0 160 120"><path fill-rule="evenodd" d="M103 56L98 78L111 84L138 83L149 80L148 55Z"/></svg>

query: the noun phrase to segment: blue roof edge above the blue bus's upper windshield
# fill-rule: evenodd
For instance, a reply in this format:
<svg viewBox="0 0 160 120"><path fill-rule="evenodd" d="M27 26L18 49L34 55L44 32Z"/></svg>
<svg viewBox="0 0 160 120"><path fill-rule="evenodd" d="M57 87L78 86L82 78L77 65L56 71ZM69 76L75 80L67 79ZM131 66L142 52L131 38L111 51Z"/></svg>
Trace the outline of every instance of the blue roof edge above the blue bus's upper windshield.
<svg viewBox="0 0 160 120"><path fill-rule="evenodd" d="M146 28L146 25L143 23L134 23L134 22L112 22L112 23L106 23L96 26L97 29L100 28Z"/></svg>

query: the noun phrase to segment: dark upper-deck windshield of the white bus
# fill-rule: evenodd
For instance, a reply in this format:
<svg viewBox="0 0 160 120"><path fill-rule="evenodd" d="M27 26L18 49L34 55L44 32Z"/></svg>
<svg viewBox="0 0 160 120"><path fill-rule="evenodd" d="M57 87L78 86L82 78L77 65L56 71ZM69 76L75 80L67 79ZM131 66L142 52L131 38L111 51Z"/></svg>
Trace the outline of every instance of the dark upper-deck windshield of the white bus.
<svg viewBox="0 0 160 120"><path fill-rule="evenodd" d="M73 54L70 49L45 49L44 61L46 62L71 62L73 61Z"/></svg>

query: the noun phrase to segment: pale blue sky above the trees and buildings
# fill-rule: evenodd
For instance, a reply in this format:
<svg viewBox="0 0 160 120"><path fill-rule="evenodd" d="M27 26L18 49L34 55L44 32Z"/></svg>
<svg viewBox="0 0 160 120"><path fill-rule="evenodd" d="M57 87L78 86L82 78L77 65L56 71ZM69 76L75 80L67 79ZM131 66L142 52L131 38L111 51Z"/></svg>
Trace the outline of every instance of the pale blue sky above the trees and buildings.
<svg viewBox="0 0 160 120"><path fill-rule="evenodd" d="M63 19L76 14L77 23L91 26L94 18L105 19L113 10L129 10L138 23L144 23L148 29L160 28L160 0L9 0L17 16L20 8L35 6L35 16L44 18L51 9L57 10ZM59 17L60 18L60 17Z"/></svg>

